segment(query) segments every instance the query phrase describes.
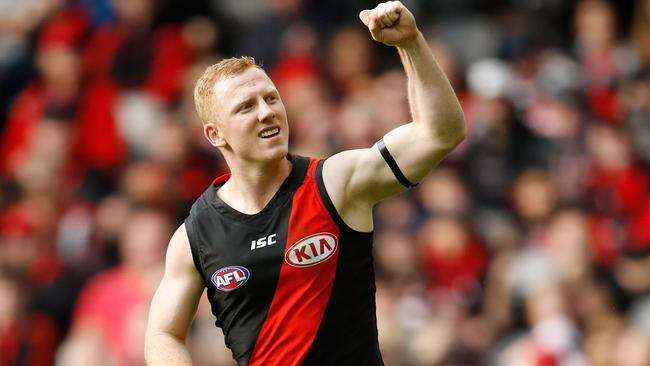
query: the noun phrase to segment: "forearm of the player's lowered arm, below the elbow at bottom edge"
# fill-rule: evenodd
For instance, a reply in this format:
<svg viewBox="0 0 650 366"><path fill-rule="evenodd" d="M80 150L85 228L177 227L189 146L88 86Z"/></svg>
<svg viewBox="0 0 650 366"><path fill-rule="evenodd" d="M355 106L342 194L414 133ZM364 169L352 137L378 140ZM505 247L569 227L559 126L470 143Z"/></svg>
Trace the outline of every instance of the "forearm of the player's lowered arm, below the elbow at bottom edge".
<svg viewBox="0 0 650 366"><path fill-rule="evenodd" d="M144 356L147 366L192 366L185 342L167 333L147 334Z"/></svg>

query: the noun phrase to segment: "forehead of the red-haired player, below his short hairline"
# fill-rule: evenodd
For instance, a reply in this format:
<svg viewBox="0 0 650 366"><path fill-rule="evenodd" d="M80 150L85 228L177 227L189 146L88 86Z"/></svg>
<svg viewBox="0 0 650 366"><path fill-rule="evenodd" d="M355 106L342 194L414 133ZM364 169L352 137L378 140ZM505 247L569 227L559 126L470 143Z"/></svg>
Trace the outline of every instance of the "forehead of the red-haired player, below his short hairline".
<svg viewBox="0 0 650 366"><path fill-rule="evenodd" d="M215 95L220 96L219 99L225 104L269 90L275 90L273 81L257 67L249 67L241 74L218 80L214 85Z"/></svg>

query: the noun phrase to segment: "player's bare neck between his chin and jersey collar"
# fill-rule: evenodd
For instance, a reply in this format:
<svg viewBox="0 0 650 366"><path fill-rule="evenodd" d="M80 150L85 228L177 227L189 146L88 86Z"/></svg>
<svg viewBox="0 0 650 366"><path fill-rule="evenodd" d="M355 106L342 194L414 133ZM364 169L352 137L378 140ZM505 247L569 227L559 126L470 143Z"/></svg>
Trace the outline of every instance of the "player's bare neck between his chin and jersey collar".
<svg viewBox="0 0 650 366"><path fill-rule="evenodd" d="M230 207L249 215L260 212L291 173L291 162L284 157L259 164L228 165L230 179L217 195Z"/></svg>

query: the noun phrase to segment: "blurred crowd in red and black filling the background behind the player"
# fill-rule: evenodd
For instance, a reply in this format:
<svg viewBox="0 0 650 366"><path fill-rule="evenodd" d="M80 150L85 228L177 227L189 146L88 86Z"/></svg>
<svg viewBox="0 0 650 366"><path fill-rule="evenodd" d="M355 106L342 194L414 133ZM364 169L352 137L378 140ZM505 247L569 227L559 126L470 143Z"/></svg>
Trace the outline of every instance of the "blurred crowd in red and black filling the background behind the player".
<svg viewBox="0 0 650 366"><path fill-rule="evenodd" d="M386 365L650 365L650 0L404 3L467 138L375 210ZM143 365L167 242L227 169L207 65L262 63L294 154L408 121L375 4L0 0L0 365ZM188 347L234 365L205 298Z"/></svg>

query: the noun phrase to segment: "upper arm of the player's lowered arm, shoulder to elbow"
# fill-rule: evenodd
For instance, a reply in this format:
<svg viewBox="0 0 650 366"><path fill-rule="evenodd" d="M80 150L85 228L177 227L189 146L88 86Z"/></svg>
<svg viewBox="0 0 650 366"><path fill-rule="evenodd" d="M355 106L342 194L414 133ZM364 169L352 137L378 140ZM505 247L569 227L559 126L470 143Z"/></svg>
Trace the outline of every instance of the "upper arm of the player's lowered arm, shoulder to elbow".
<svg viewBox="0 0 650 366"><path fill-rule="evenodd" d="M151 302L147 334L165 333L184 339L203 289L185 225L181 225L167 248L165 274Z"/></svg>

